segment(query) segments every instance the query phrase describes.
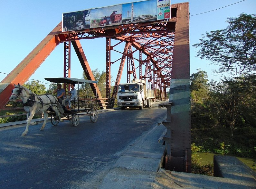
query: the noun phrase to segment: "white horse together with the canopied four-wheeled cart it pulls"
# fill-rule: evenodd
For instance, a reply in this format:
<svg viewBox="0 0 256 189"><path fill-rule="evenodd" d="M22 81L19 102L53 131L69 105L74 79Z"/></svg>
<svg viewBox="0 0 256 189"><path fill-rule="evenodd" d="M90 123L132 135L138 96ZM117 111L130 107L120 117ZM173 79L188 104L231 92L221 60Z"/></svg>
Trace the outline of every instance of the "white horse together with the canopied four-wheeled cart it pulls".
<svg viewBox="0 0 256 189"><path fill-rule="evenodd" d="M79 84L90 83L96 84L98 81L77 79L77 78L45 78L47 81L53 83L65 83L65 84L77 84L79 92ZM97 96L97 95L96 95ZM73 126L78 126L80 122L79 115L90 116L91 122L96 122L98 119L97 111L97 97L80 97L71 99L69 101L70 109L67 109L64 105L58 102L56 96L45 94L36 95L33 94L29 89L20 84L14 85L12 90L12 95L10 101L15 101L17 97L22 99L24 110L28 112L27 114L27 124L26 129L22 133L22 136L27 135L28 127L35 113L44 113L44 122L40 130L43 130L48 118L48 114L51 115L52 125L57 125L63 119L67 119L72 122Z"/></svg>

